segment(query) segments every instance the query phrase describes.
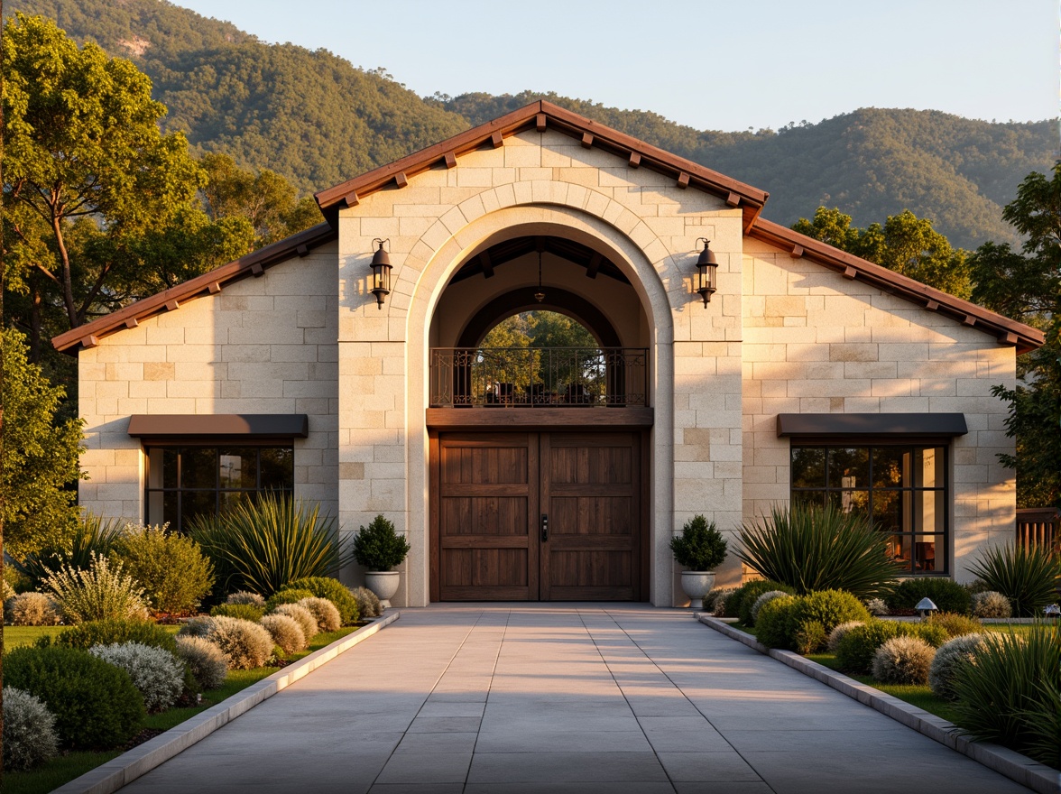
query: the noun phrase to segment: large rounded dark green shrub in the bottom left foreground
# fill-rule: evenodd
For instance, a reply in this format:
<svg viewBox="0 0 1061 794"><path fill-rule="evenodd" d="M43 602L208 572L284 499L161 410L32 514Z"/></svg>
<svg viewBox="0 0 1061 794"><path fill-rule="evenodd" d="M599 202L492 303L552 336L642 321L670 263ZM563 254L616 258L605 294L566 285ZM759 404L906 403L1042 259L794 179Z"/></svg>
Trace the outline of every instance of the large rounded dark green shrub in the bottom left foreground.
<svg viewBox="0 0 1061 794"><path fill-rule="evenodd" d="M143 722L128 674L73 648L23 646L5 654L4 683L45 702L59 740L74 749L117 747Z"/></svg>

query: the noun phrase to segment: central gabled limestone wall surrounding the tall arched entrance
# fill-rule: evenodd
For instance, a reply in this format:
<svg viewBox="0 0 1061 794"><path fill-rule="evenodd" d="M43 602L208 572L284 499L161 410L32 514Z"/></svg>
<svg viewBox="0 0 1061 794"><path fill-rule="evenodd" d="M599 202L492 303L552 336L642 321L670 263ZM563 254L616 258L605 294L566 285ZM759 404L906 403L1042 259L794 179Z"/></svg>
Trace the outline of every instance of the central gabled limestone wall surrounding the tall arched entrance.
<svg viewBox="0 0 1061 794"><path fill-rule="evenodd" d="M741 515L741 212L552 131L464 154L452 169L440 162L404 188L371 193L341 211L342 520L353 527L383 513L407 532L413 552L395 603L427 603L423 412L432 317L448 278L468 256L530 234L606 251L630 278L648 318L656 409L653 601L669 605L677 571L667 548L672 534L696 513L719 525ZM712 240L720 262L719 290L707 309L692 292L698 237ZM389 240L394 264L382 310L366 283L373 238ZM585 280L584 294L592 299L592 281ZM449 327L457 322L447 321ZM378 385L354 372L360 366L402 374L404 398L397 381ZM386 424L387 412L394 425ZM396 477L402 467L404 476Z"/></svg>

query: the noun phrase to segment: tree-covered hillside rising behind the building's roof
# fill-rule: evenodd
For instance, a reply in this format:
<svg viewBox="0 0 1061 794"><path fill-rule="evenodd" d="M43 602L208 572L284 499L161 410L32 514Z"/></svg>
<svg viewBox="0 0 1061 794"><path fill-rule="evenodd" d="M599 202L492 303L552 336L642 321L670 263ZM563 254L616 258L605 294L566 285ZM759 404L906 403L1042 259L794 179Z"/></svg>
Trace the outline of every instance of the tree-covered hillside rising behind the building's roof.
<svg viewBox="0 0 1061 794"><path fill-rule="evenodd" d="M168 128L307 192L543 97L769 191L764 214L779 223L810 218L819 205L840 208L856 225L910 209L972 248L1013 239L1002 207L1029 171L1046 172L1057 157L1053 121L863 108L779 131L698 131L552 93L424 99L379 70L325 50L266 45L164 0L8 0L4 11L50 16L76 40L129 57L169 107Z"/></svg>

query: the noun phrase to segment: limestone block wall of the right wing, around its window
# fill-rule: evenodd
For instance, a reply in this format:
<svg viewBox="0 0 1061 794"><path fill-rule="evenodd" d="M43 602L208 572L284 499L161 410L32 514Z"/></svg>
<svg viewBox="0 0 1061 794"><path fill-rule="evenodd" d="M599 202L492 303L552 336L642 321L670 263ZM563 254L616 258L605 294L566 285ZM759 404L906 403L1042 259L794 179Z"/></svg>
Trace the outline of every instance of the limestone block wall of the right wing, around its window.
<svg viewBox="0 0 1061 794"><path fill-rule="evenodd" d="M975 550L1013 535L1014 473L996 458L1013 439L991 387L1014 383L1014 348L751 239L744 292L745 519L788 501L779 413L961 412L969 434L951 447L951 571L971 579Z"/></svg>

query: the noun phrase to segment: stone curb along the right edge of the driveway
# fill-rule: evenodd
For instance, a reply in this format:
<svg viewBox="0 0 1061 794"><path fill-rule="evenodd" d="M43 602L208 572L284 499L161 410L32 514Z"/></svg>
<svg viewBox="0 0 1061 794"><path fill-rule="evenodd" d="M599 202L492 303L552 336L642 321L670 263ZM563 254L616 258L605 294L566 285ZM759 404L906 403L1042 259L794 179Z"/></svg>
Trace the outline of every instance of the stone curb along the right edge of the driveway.
<svg viewBox="0 0 1061 794"><path fill-rule="evenodd" d="M974 761L978 761L988 769L1005 775L1010 780L1014 780L1032 791L1037 791L1039 794L1061 794L1061 772L1050 769L1046 764L1033 761L1027 756L1023 756L998 744L974 742L967 739L958 732L958 728L954 723L936 717L917 706L911 706L905 701L874 689L868 684L859 684L842 673L837 673L824 664L805 659L797 653L769 649L750 634L745 634L740 629L733 628L713 616L697 612L695 617L701 623L714 628L716 632L738 642L743 642L748 648L770 656L804 675L827 684L833 689L842 692L848 697L853 697L859 703L876 709L882 714L901 722L908 728L914 728L919 733L923 733L929 739L946 745L951 749L969 756Z"/></svg>

